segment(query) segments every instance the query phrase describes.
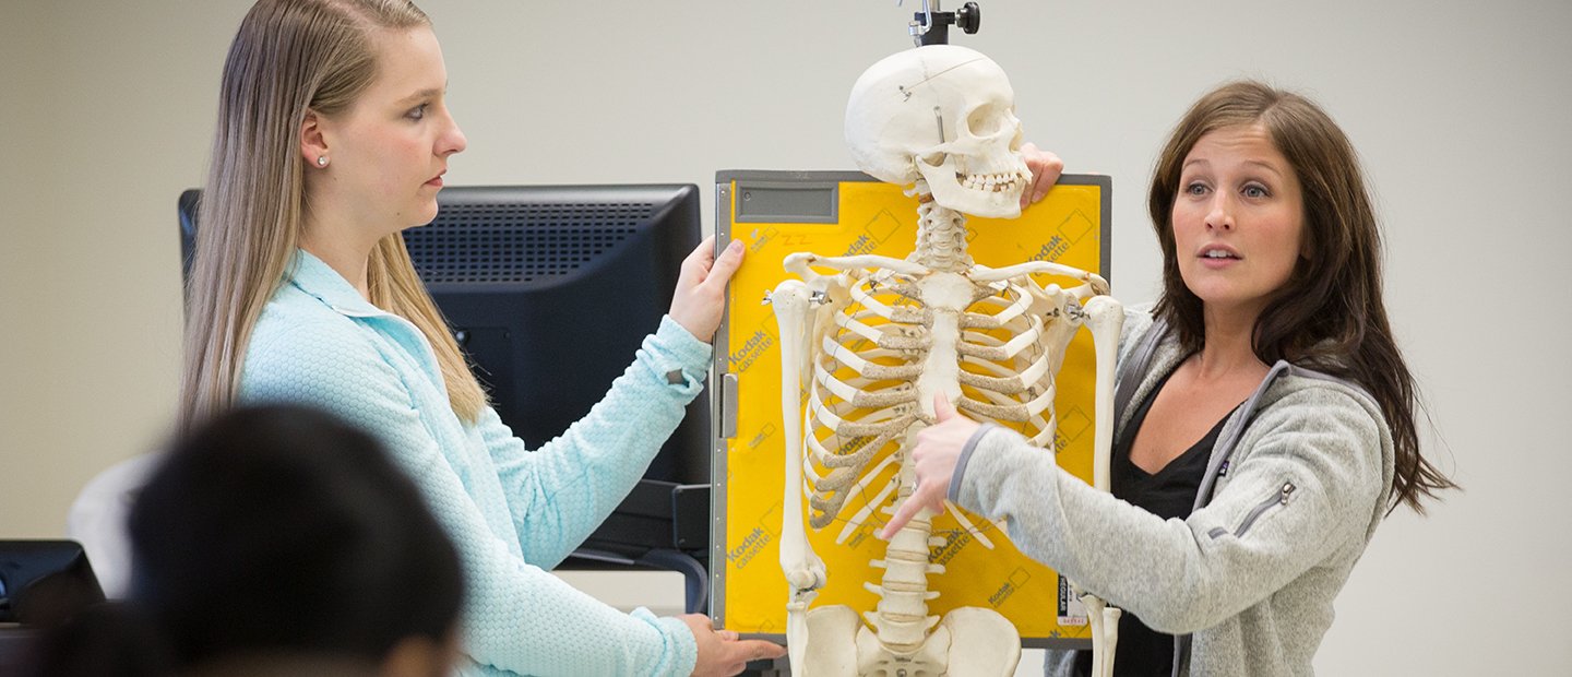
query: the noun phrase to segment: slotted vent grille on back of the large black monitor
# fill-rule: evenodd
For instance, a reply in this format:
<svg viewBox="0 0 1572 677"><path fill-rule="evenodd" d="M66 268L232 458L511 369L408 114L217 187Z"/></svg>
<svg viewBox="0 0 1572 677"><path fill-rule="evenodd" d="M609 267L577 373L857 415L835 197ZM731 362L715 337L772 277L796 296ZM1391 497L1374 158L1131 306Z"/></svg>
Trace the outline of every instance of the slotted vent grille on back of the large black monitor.
<svg viewBox="0 0 1572 677"><path fill-rule="evenodd" d="M404 243L426 284L571 275L632 237L654 204L443 204Z"/></svg>

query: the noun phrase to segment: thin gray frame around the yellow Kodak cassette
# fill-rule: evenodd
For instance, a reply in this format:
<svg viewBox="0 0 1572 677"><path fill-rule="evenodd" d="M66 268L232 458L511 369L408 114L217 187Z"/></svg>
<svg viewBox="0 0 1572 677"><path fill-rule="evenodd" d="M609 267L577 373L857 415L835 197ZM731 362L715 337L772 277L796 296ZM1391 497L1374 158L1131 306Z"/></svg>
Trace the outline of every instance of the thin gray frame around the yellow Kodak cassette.
<svg viewBox="0 0 1572 677"><path fill-rule="evenodd" d="M731 184L739 184L739 190L745 187L764 187L769 190L832 190L833 199L838 203L839 184L843 182L877 182L872 176L861 171L773 171L773 170L723 170L715 173L715 254L718 256L722 248L731 242L733 234L733 218L731 218ZM1113 281L1111 253L1113 253L1113 177L1107 174L1063 174L1058 181L1060 185L1097 185L1100 204L1099 215L1100 221L1100 256L1099 265L1102 267L1102 275L1110 283ZM835 204L835 203L832 203ZM836 209L838 212L838 209ZM824 220L822 215L806 214L800 218L789 218L792 215L772 215L769 223L836 223L836 218ZM742 220L736 223L764 221L762 218ZM781 272L784 280L784 272ZM711 383L715 383L714 393L711 394L711 421L712 421L712 443L711 443L711 553L709 553L709 617L714 620L717 628L725 627L725 614L722 609L726 608L726 440L731 440L737 434L737 394L739 385L736 374L726 371L728 360L731 357L731 308L722 314L720 328L715 331L715 352L711 363ZM748 633L750 638L762 638L775 642L786 641L784 635L769 635L769 633ZM1022 639L1022 646L1027 649L1091 649L1089 639L1069 639L1069 638L1028 638Z"/></svg>

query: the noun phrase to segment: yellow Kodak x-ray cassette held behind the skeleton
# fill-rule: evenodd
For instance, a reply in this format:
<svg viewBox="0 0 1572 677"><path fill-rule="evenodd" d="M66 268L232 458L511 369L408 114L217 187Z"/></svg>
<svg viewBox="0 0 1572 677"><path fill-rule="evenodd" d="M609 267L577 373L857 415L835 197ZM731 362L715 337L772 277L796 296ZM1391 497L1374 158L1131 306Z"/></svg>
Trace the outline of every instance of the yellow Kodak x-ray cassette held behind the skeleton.
<svg viewBox="0 0 1572 677"><path fill-rule="evenodd" d="M989 267L1055 261L1108 276L1110 188L1107 176L1064 176L1020 218L968 218L967 251ZM783 280L795 278L781 267L791 253L905 258L916 240L918 201L861 173L723 171L715 179L715 203L720 242L740 239L747 258L731 281L728 317L715 338L711 614L717 627L784 639L789 586L778 542L784 454L797 449L784 449L780 328L762 302ZM1050 276L1039 283L1071 284ZM1056 385L1058 463L1088 479L1096 390L1089 331L1078 331L1071 342ZM893 478L891 470L885 474ZM883 558L885 542L876 532L890 515L876 509L857 528L849 528L844 515L871 501L885 479L852 495L836 521L808 529L828 572L816 608L847 605L861 613L879 602L863 583L877 584L883 575L871 561ZM890 492L883 503L893 498ZM929 614L982 606L1016 624L1025 646L1089 646L1085 611L1067 583L1017 551L998 525L964 517L970 528L953 510L934 518L932 536L943 545L932 547L929 559L946 572L927 578L929 589L938 592L927 603Z"/></svg>

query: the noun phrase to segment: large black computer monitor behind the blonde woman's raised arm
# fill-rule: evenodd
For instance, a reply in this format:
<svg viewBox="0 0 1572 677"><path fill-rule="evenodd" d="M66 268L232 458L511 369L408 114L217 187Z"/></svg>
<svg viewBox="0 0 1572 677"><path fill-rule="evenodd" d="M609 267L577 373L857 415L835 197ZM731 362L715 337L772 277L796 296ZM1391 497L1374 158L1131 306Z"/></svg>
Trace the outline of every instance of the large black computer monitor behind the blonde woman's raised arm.
<svg viewBox="0 0 1572 677"><path fill-rule="evenodd" d="M187 273L198 199L198 190L179 199ZM692 184L448 187L437 204L437 218L404 231L404 242L497 413L531 449L621 375L701 240ZM704 396L645 478L709 484Z"/></svg>

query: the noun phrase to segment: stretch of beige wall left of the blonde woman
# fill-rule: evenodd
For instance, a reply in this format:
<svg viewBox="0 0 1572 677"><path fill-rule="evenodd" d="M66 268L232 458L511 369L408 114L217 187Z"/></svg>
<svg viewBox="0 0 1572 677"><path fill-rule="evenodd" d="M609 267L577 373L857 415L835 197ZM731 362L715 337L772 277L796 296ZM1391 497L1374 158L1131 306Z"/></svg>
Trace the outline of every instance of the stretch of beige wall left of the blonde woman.
<svg viewBox="0 0 1572 677"><path fill-rule="evenodd" d="M244 6L5 5L0 536L60 536L77 490L154 446L179 357L174 196L201 181ZM14 173L14 177L13 174Z"/></svg>

